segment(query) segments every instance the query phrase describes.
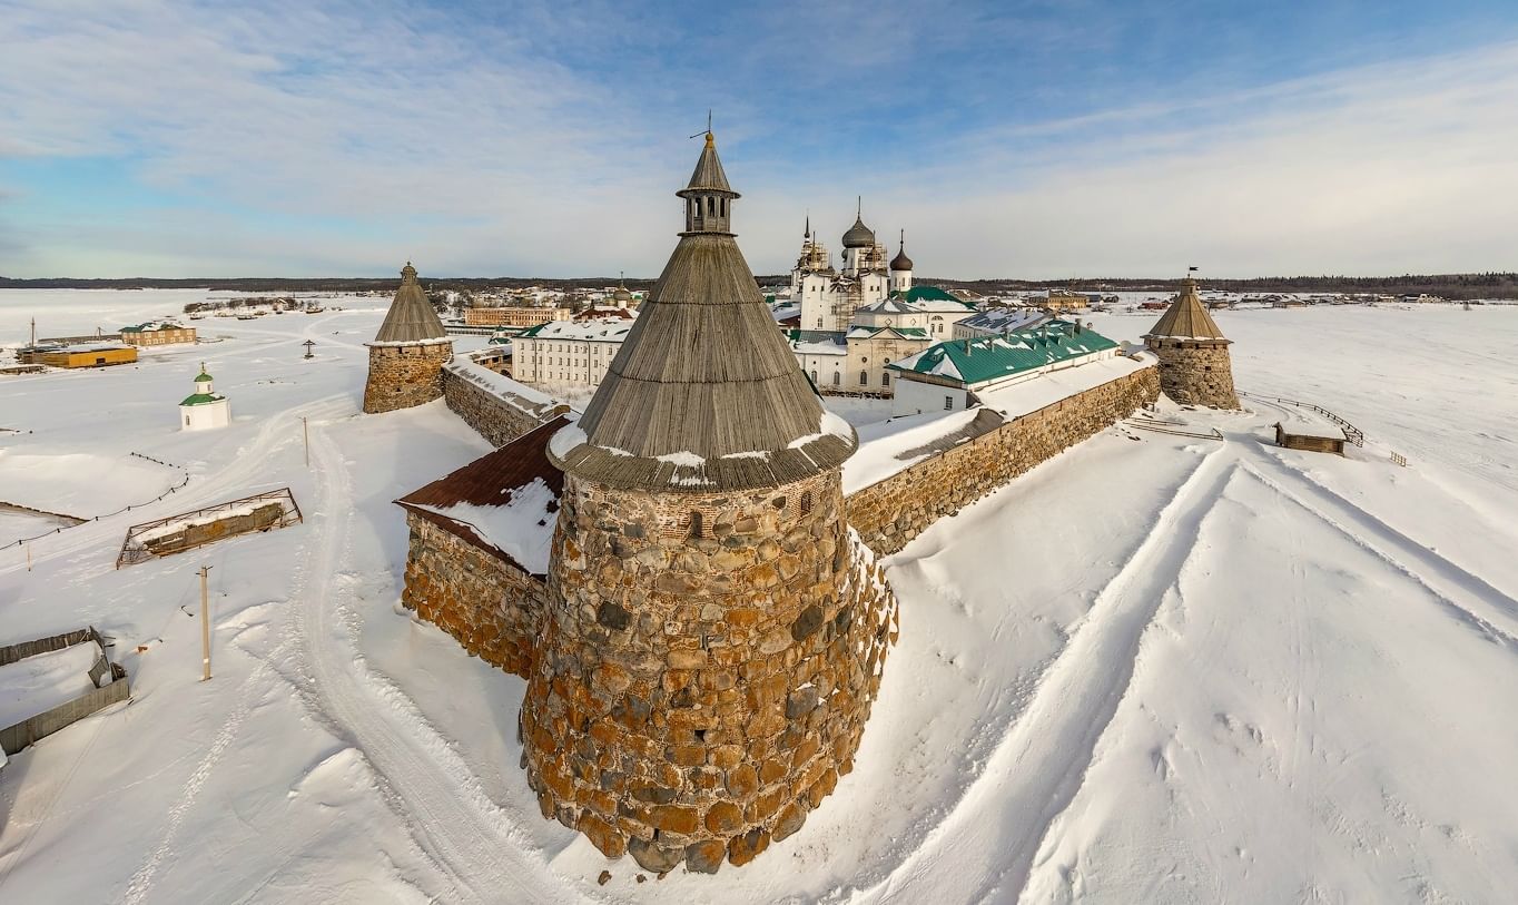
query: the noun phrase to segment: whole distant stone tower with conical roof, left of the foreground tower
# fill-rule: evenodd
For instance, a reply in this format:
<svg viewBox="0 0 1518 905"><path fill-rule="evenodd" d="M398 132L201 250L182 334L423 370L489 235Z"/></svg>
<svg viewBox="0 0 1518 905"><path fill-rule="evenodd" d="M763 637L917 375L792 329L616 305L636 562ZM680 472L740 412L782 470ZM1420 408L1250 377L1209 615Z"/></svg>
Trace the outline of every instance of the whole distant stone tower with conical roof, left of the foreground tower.
<svg viewBox="0 0 1518 905"><path fill-rule="evenodd" d="M454 343L416 281L411 261L401 269L390 311L369 343L369 383L364 412L393 412L430 402L443 395L443 364L454 357Z"/></svg>

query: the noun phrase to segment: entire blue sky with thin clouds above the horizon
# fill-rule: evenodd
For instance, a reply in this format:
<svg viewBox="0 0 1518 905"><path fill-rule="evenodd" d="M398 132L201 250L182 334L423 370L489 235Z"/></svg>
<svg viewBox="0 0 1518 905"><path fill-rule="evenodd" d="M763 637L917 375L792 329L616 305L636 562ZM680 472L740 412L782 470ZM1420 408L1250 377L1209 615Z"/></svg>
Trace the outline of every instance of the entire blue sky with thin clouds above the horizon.
<svg viewBox="0 0 1518 905"><path fill-rule="evenodd" d="M0 0L0 275L1518 269L1518 5Z"/></svg>

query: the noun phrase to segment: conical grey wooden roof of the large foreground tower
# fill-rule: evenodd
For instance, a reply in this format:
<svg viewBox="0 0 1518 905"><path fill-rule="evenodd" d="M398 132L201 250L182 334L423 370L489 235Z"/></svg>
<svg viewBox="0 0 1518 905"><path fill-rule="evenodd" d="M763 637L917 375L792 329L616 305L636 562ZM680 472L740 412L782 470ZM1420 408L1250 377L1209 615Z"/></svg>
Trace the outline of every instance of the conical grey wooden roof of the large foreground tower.
<svg viewBox="0 0 1518 905"><path fill-rule="evenodd" d="M721 176L712 144L703 170ZM550 452L598 483L710 493L797 481L856 445L823 410L733 235L682 232L584 415Z"/></svg>

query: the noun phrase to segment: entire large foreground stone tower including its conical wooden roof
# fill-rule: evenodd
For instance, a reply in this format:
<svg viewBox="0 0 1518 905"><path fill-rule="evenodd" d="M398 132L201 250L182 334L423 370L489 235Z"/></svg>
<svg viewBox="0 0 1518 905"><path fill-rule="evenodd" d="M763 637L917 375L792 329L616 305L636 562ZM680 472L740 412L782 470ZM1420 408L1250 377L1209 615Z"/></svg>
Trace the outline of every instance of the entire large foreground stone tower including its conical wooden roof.
<svg viewBox="0 0 1518 905"><path fill-rule="evenodd" d="M853 767L896 600L823 410L730 231L712 135L685 231L578 424L521 732L545 817L650 872L744 864Z"/></svg>

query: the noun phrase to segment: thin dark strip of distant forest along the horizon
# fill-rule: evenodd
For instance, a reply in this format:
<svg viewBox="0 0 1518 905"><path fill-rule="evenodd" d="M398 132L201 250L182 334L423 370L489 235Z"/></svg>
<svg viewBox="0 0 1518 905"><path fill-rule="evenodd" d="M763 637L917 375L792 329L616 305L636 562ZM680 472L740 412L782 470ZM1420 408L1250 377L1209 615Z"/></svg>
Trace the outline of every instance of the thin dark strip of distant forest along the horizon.
<svg viewBox="0 0 1518 905"><path fill-rule="evenodd" d="M600 289L615 285L612 276L578 276L574 279L522 278L522 276L424 276L431 290L474 292L490 287L521 289L542 285L553 289ZM776 285L789 281L788 275L757 276L759 285ZM970 289L994 295L1008 292L1035 292L1047 289L1081 289L1105 292L1164 292L1173 290L1176 279L1142 279L1131 276L1072 278L1072 279L950 279L918 278L918 282ZM628 279L628 289L651 289L653 279ZM395 278L364 279L323 276L307 279L284 279L272 276L246 276L231 279L14 279L0 276L0 289L205 289L229 292L390 292ZM1205 289L1240 293L1378 293L1416 295L1428 293L1447 299L1518 299L1518 273L1439 273L1403 276L1254 276L1249 279L1204 278Z"/></svg>

